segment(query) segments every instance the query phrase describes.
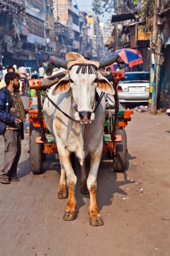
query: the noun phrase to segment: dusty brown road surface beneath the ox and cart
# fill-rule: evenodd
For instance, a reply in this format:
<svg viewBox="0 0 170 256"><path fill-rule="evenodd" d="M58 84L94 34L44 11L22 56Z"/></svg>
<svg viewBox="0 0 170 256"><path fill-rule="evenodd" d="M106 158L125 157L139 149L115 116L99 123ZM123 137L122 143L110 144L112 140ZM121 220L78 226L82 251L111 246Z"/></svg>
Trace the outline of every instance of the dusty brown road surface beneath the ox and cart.
<svg viewBox="0 0 170 256"><path fill-rule="evenodd" d="M22 98L28 106L28 98ZM97 204L104 221L99 227L89 225L89 195L80 193L78 163L78 216L73 222L62 220L67 199L57 198L58 159L48 156L44 173L32 174L25 133L20 181L0 184L0 255L169 256L170 118L165 113L134 113L126 132L126 172L114 172L105 154L99 167Z"/></svg>

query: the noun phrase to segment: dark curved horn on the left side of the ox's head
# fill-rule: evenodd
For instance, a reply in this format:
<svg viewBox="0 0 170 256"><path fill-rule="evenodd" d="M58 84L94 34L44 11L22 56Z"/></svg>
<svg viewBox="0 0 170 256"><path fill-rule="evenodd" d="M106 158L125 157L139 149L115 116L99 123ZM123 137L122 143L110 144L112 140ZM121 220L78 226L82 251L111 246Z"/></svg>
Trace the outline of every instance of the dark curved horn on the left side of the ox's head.
<svg viewBox="0 0 170 256"><path fill-rule="evenodd" d="M52 75L53 67L62 67L63 69L67 69L67 63L68 61L65 61L65 59L58 59L51 56L50 60L48 61L48 65L46 66L46 75Z"/></svg>

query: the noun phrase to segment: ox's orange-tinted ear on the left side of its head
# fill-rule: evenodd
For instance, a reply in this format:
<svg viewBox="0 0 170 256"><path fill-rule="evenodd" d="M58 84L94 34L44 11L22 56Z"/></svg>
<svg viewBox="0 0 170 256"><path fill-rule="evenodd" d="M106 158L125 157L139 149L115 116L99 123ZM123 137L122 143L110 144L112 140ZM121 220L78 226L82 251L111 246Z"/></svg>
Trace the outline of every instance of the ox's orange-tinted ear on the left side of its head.
<svg viewBox="0 0 170 256"><path fill-rule="evenodd" d="M70 79L69 74L65 75L60 81L56 84L55 88L52 91L52 95L63 94L70 90Z"/></svg>

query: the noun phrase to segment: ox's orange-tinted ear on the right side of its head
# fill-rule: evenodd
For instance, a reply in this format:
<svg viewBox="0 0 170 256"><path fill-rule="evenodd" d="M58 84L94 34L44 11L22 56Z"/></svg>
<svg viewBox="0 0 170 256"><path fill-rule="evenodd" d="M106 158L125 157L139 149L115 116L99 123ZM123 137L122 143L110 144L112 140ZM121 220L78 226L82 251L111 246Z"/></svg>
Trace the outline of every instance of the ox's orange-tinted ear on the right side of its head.
<svg viewBox="0 0 170 256"><path fill-rule="evenodd" d="M114 88L112 87L112 85L110 84L110 82L108 81L108 79L106 79L105 77L103 77L103 75L101 75L101 73L97 72L97 88L99 90L101 90L102 92L105 92L106 94L115 94Z"/></svg>

